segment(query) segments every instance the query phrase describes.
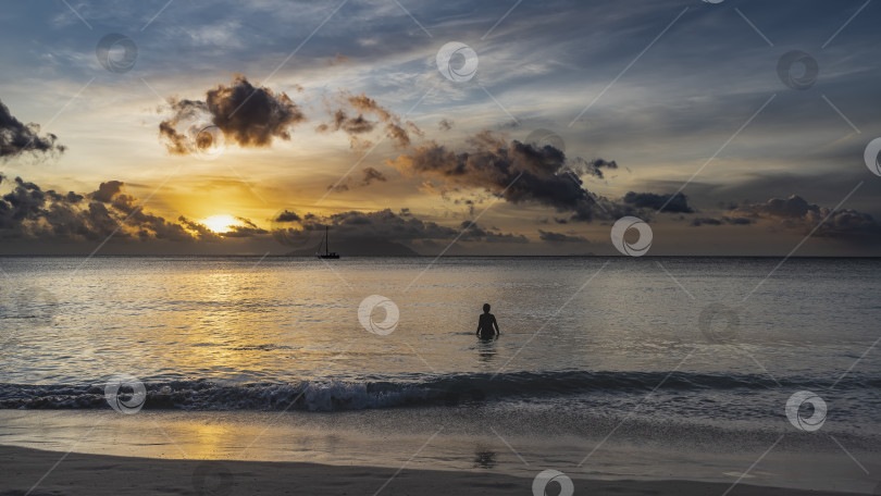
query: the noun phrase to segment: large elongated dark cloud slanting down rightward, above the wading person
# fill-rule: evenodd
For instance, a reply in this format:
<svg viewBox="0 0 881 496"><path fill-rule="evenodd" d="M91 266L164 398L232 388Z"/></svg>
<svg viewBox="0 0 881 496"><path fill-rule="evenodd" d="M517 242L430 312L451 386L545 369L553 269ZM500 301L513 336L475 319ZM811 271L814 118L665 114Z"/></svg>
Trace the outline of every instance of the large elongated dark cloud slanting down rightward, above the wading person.
<svg viewBox="0 0 881 496"><path fill-rule="evenodd" d="M573 173L574 170L601 175L600 169L615 169L618 166L615 162L601 159L568 161L566 154L553 146L535 147L518 140L507 142L487 131L469 139L469 145L473 151L456 152L431 142L398 157L392 164L405 174L433 175L452 185L484 188L511 203L544 204L585 222L636 213L647 204L635 200L652 195L634 193L631 197L634 201L615 202L587 191L582 179ZM570 166L570 162L574 162L574 166ZM684 196L675 200L674 211L692 211Z"/></svg>

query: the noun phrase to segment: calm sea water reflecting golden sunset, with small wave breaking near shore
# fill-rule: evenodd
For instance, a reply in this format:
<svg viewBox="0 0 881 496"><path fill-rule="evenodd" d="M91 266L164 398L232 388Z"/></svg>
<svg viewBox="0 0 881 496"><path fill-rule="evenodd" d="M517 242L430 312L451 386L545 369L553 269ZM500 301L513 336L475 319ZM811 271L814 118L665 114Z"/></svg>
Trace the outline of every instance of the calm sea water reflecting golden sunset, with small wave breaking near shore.
<svg viewBox="0 0 881 496"><path fill-rule="evenodd" d="M633 476L638 457L613 456L630 444L673 449L671 459L742 454L745 467L714 466L724 480L783 435L775 450L827 474L829 461L811 454L832 457L846 485L864 476L851 456L864 467L879 458L881 260L791 259L773 271L779 262L4 258L0 443L110 416L104 384L126 374L147 400L122 417L160 416L196 451L185 434L194 424L222 421L240 436L265 420L348 439L303 442L308 459L318 450L321 461L382 464L383 449L355 433L398 436L414 451L439 425L432 467L531 471L535 460L575 467L587 456L581 469ZM398 310L372 312L374 325L396 322L390 334L359 321L372 295ZM501 336L482 343L484 302ZM816 432L786 417L802 390L828 407ZM285 420L271 420L281 411ZM474 444L464 458L462 443ZM215 443L208 456L247 444ZM285 446L261 449L302 458ZM674 475L653 470L638 472Z"/></svg>

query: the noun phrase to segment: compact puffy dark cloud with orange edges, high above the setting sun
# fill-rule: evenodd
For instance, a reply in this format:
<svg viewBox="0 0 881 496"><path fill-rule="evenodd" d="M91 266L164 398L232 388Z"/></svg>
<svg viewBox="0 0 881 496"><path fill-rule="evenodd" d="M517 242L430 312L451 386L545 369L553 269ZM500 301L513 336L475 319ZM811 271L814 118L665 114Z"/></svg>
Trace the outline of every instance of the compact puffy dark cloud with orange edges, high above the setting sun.
<svg viewBox="0 0 881 496"><path fill-rule="evenodd" d="M224 138L243 148L268 147L274 139L290 139L289 128L306 120L299 106L285 92L255 87L237 74L229 86L206 91L206 99L169 99L173 115L159 124L159 134L171 153L187 154L198 142L200 131L214 125ZM208 136L202 134L201 136Z"/></svg>

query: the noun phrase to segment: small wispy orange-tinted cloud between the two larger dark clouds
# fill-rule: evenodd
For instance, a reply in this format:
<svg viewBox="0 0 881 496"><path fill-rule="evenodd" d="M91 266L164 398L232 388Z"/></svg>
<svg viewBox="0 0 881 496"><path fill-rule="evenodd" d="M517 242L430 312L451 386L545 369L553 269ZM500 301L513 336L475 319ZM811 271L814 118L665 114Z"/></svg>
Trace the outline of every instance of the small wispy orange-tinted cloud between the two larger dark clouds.
<svg viewBox="0 0 881 496"><path fill-rule="evenodd" d="M414 123L405 121L364 94L352 95L349 91L342 91L336 98L336 103L340 107L331 110L331 122L319 124L317 131L343 131L352 136L370 133L382 125L385 137L390 139L396 148L409 147L411 136L423 136L422 129ZM352 148L357 148L359 144L358 140L352 140Z"/></svg>

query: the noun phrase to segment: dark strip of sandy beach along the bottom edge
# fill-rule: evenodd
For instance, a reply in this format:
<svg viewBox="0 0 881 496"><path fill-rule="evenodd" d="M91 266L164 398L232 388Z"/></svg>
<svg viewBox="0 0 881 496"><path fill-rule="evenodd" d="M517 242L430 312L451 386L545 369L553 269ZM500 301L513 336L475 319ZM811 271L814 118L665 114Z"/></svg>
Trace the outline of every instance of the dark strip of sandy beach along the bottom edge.
<svg viewBox="0 0 881 496"><path fill-rule="evenodd" d="M236 460L159 460L0 446L2 495L509 495L530 494L532 480L495 473L334 467ZM61 460L61 461L60 461ZM59 462L60 461L60 462ZM50 469L54 467L54 470ZM688 481L593 481L570 475L575 495L714 495L730 484ZM39 483L37 484L37 482ZM556 487L549 486L548 494ZM729 495L844 495L737 484Z"/></svg>

